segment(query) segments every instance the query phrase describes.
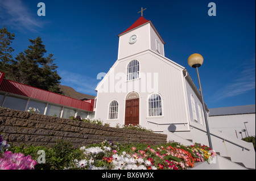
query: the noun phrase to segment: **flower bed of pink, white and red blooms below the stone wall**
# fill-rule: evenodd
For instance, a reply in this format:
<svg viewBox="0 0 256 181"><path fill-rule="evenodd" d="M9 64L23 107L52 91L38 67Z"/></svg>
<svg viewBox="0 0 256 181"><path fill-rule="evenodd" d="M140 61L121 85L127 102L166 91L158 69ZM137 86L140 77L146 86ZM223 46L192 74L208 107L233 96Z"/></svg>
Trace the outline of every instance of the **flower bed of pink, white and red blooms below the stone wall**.
<svg viewBox="0 0 256 181"><path fill-rule="evenodd" d="M46 151L46 163L37 164L35 153L42 149ZM0 169L184 170L213 157L209 150L205 145L184 146L177 142L124 145L106 140L72 149L71 144L62 140L53 148L11 146L9 151L0 153L0 165L5 163Z"/></svg>

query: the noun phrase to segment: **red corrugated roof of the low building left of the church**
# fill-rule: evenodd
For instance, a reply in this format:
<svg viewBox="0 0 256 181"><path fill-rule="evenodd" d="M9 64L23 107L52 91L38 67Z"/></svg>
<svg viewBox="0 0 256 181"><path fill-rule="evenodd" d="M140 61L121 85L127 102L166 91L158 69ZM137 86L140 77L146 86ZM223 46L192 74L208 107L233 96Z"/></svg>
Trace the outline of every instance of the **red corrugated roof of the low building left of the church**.
<svg viewBox="0 0 256 181"><path fill-rule="evenodd" d="M44 100L50 103L56 103L63 106L69 106L79 108L81 110L93 111L94 99L93 100L78 100L70 98L65 95L56 94L47 90L38 89L36 87L24 85L22 83L3 79L0 85L0 90L10 92L12 94L18 94L27 96L28 98L34 98Z"/></svg>

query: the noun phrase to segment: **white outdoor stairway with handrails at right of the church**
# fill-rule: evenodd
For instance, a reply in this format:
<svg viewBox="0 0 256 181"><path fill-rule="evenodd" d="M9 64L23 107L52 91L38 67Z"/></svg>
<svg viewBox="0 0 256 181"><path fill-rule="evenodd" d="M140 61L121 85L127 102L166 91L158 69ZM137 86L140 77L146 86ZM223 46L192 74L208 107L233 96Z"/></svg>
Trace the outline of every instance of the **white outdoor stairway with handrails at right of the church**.
<svg viewBox="0 0 256 181"><path fill-rule="evenodd" d="M180 142L183 145L194 145L194 142L208 145L206 129L203 125L192 124L189 131L170 132L163 130L167 134L167 141ZM220 164L207 166L209 169L226 169L230 165L234 169L255 169L255 151L253 144L230 138L220 132L210 130L214 151L217 153L217 160ZM224 157L223 157L224 156ZM225 158L230 157L230 158ZM230 161L231 159L231 161ZM237 163L236 163L237 162ZM201 169L203 165L199 166ZM244 167L245 166L245 167Z"/></svg>

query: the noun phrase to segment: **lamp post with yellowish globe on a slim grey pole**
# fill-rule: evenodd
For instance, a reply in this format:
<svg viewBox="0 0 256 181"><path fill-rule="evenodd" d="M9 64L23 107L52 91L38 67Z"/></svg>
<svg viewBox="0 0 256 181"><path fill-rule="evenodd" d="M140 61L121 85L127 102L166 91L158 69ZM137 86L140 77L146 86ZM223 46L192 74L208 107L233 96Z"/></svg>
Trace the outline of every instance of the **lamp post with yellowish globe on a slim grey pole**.
<svg viewBox="0 0 256 181"><path fill-rule="evenodd" d="M207 112L205 111L204 96L203 96L203 91L202 91L200 77L199 77L199 71L198 71L198 68L203 64L203 62L204 62L204 58L201 56L201 54L194 53L188 57L188 65L191 66L192 68L196 69L197 79L198 79L198 83L199 83L199 89L200 89L201 98L202 98L203 110L204 110L205 125L207 128L208 142L209 142L210 149L213 149L212 140L210 139L210 130L209 130L209 125L208 125Z"/></svg>

